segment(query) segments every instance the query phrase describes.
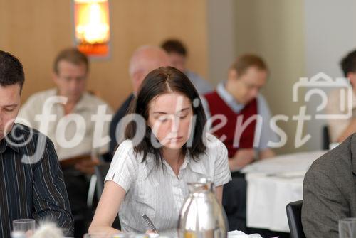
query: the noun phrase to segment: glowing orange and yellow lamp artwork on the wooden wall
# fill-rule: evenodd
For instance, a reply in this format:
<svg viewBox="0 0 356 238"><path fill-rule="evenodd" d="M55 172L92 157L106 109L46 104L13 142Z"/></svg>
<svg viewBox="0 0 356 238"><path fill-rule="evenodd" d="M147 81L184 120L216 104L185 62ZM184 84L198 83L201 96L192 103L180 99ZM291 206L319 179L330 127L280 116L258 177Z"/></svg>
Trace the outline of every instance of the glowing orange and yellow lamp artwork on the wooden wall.
<svg viewBox="0 0 356 238"><path fill-rule="evenodd" d="M108 0L74 0L75 43L88 56L109 55Z"/></svg>

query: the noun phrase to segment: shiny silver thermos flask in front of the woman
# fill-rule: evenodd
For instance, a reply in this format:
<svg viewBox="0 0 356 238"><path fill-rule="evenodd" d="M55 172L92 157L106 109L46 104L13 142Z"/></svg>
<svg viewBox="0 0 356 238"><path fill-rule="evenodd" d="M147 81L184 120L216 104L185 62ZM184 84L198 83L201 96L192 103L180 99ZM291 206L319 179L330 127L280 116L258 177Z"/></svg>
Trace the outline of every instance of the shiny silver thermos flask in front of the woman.
<svg viewBox="0 0 356 238"><path fill-rule="evenodd" d="M178 220L179 238L226 238L229 230L224 208L209 178L188 183L189 195Z"/></svg>

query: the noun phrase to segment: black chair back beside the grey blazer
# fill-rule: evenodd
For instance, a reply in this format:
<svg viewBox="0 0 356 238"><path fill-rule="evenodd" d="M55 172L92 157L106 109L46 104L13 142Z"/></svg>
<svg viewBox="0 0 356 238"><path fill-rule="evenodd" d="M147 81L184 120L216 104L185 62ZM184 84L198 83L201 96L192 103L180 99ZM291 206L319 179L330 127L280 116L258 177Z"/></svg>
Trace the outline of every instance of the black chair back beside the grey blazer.
<svg viewBox="0 0 356 238"><path fill-rule="evenodd" d="M305 238L302 226L303 200L290 202L287 207L288 225L291 238Z"/></svg>

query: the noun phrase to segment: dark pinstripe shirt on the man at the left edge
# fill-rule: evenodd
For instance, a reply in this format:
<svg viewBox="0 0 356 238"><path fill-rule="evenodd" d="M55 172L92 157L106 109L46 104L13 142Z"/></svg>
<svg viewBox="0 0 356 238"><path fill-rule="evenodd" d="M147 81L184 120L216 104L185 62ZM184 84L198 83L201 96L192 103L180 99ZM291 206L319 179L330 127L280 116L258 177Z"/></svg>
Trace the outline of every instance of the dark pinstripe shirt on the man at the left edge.
<svg viewBox="0 0 356 238"><path fill-rule="evenodd" d="M51 140L14 124L0 141L0 237L10 237L12 221L51 220L73 235L73 217L63 173Z"/></svg>

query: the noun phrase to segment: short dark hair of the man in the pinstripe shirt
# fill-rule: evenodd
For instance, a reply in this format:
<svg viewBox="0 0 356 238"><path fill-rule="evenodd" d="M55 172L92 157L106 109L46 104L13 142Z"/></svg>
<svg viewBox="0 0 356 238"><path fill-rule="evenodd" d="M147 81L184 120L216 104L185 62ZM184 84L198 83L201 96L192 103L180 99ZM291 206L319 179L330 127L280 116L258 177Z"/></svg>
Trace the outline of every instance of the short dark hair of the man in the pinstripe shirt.
<svg viewBox="0 0 356 238"><path fill-rule="evenodd" d="M25 82L25 73L20 60L0 50L0 85L6 87L19 84L22 90L23 82Z"/></svg>

